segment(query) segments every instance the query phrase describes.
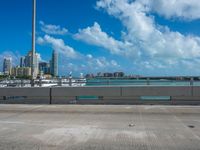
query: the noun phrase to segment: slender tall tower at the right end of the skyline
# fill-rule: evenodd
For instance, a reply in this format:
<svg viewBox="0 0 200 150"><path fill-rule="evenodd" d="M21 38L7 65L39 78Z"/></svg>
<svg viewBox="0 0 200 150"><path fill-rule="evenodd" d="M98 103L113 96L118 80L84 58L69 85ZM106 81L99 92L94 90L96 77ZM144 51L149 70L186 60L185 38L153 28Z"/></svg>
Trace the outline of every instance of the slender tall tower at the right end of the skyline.
<svg viewBox="0 0 200 150"><path fill-rule="evenodd" d="M52 59L51 59L51 75L56 77L58 76L58 53L53 50Z"/></svg>

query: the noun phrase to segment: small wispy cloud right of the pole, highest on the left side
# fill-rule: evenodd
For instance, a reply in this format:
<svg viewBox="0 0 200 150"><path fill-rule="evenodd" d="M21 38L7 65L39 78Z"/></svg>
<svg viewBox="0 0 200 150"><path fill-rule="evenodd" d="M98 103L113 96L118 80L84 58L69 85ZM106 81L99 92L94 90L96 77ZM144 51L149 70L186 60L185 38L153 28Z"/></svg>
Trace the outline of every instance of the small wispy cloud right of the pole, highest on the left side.
<svg viewBox="0 0 200 150"><path fill-rule="evenodd" d="M58 25L52 25L52 24L45 24L43 21L40 21L41 30L46 34L51 35L65 35L68 33L68 30L66 28L61 28Z"/></svg>

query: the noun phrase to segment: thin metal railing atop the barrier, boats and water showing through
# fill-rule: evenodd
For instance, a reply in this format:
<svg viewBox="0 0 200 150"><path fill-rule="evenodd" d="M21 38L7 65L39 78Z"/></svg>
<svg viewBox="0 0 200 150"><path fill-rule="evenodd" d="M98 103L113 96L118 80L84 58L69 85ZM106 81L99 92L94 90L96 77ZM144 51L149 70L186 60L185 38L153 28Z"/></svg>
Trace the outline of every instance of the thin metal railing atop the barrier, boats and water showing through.
<svg viewBox="0 0 200 150"><path fill-rule="evenodd" d="M167 86L192 86L200 85L199 78L184 78L178 80L175 78L100 78L100 79L80 79L80 78L56 78L56 79L37 79L34 80L35 87L54 87L54 86L143 86L143 85L167 85ZM23 79L4 79L0 81L0 87L31 87L31 80Z"/></svg>

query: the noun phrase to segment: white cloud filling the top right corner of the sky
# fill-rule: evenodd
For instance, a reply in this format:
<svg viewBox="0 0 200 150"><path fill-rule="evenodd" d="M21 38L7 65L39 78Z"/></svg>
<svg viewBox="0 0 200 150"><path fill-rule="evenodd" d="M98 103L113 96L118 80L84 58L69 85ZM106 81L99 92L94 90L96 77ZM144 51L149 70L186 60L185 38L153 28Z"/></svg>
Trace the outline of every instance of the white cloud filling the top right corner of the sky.
<svg viewBox="0 0 200 150"><path fill-rule="evenodd" d="M199 0L137 0L166 18L200 19Z"/></svg>

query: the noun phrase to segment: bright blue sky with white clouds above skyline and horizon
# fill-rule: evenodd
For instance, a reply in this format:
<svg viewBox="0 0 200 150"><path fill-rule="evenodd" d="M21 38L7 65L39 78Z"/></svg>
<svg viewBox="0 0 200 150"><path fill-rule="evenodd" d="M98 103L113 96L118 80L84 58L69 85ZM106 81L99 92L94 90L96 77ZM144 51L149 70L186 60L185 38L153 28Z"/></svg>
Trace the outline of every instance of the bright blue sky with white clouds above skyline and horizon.
<svg viewBox="0 0 200 150"><path fill-rule="evenodd" d="M0 71L31 50L32 0L0 2ZM199 0L37 0L36 51L59 74L200 75Z"/></svg>

